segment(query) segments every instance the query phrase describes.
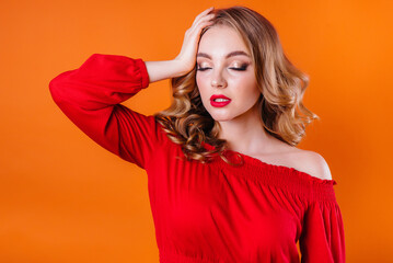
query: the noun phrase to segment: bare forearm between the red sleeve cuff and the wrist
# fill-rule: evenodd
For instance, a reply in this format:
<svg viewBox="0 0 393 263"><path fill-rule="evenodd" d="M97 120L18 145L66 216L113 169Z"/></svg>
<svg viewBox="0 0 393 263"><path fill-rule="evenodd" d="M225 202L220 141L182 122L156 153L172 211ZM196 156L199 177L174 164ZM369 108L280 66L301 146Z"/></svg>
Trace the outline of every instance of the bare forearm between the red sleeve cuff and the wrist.
<svg viewBox="0 0 393 263"><path fill-rule="evenodd" d="M171 79L187 73L187 70L178 60L145 61L149 73L149 82ZM189 70L188 70L189 71Z"/></svg>

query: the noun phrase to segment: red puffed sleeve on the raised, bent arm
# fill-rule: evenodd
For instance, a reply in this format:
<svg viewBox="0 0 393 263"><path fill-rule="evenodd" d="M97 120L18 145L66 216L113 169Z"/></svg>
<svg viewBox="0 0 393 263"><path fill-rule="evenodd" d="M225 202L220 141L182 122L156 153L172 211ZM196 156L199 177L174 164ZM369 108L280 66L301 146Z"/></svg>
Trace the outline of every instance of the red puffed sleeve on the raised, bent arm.
<svg viewBox="0 0 393 263"><path fill-rule="evenodd" d="M93 54L80 68L54 78L49 90L65 115L91 139L145 169L159 144L157 123L119 103L148 85L141 59Z"/></svg>

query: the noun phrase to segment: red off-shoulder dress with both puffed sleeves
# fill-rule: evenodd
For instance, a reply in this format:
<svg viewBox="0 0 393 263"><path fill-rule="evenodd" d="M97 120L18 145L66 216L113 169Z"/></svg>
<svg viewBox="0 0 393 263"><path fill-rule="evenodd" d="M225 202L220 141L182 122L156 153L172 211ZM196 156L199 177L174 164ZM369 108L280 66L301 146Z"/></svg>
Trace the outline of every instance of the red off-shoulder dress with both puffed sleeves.
<svg viewBox="0 0 393 263"><path fill-rule="evenodd" d="M148 85L143 60L94 54L49 90L84 134L147 171L161 263L345 262L334 180L245 155L240 167L176 158L152 115L120 104Z"/></svg>

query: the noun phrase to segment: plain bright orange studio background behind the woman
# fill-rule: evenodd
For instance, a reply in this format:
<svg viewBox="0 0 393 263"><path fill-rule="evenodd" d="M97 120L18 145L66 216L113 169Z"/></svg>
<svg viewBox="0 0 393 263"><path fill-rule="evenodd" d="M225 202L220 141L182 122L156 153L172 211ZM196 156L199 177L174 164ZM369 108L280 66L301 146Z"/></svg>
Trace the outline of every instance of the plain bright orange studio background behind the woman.
<svg viewBox="0 0 393 263"><path fill-rule="evenodd" d="M347 262L392 262L392 1L2 1L0 262L158 262L147 174L55 105L48 83L94 53L174 58L195 15L250 7L310 76L300 148L337 181ZM125 104L170 105L169 80Z"/></svg>

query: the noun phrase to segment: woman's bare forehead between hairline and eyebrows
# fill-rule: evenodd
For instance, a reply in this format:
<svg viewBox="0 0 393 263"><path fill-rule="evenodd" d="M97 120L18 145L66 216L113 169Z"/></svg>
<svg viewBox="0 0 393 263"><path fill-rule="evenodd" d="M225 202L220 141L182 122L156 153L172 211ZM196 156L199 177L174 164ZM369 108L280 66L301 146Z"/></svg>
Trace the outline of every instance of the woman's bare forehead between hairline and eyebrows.
<svg viewBox="0 0 393 263"><path fill-rule="evenodd" d="M229 52L243 50L247 53L241 35L227 25L215 25L200 37L198 52L211 55L227 55Z"/></svg>

